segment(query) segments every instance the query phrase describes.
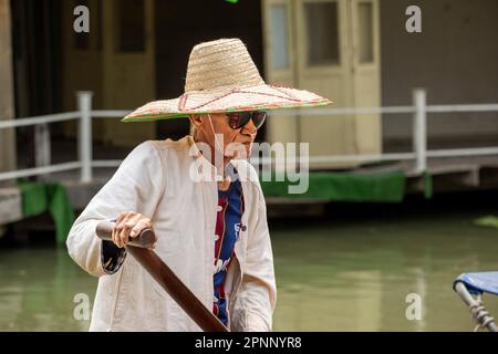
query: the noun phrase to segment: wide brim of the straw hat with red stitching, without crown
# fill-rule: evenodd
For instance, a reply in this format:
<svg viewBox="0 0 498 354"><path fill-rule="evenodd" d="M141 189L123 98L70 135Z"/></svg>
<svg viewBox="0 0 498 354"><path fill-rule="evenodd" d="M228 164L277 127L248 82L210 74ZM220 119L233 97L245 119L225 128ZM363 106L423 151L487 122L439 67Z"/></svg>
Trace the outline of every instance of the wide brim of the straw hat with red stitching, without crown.
<svg viewBox="0 0 498 354"><path fill-rule="evenodd" d="M187 92L174 100L154 101L126 115L122 122L147 122L195 114L269 111L321 106L332 103L315 93L276 85L218 87Z"/></svg>

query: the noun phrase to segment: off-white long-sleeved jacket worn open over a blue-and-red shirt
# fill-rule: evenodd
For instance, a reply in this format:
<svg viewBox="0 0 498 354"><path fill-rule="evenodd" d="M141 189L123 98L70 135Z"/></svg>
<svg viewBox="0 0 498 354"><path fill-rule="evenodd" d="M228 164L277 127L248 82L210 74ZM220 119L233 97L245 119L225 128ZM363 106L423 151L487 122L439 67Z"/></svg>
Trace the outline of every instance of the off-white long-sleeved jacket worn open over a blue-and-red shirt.
<svg viewBox="0 0 498 354"><path fill-rule="evenodd" d="M232 331L270 331L277 300L273 256L264 198L257 173L246 160L231 160L243 192L245 211L235 258L226 279ZM159 284L127 256L117 272L102 264L95 235L101 220L122 211L152 219L156 253L212 309L212 257L218 186L216 168L191 136L138 145L74 222L68 249L90 274L100 277L91 331L199 331Z"/></svg>

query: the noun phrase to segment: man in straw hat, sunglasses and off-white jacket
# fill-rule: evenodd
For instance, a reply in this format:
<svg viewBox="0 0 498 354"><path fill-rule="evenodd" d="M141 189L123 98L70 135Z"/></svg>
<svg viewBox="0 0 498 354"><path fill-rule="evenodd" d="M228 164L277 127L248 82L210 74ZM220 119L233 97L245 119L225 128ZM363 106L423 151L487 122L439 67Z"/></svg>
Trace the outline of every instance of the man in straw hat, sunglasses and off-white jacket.
<svg viewBox="0 0 498 354"><path fill-rule="evenodd" d="M243 43L196 45L186 92L124 122L189 117L193 135L138 145L74 222L68 248L98 277L91 331L198 331L126 243L146 228L155 251L232 331L271 331L277 300L264 197L247 162L266 111L328 104L307 91L267 85ZM113 241L95 235L115 219Z"/></svg>

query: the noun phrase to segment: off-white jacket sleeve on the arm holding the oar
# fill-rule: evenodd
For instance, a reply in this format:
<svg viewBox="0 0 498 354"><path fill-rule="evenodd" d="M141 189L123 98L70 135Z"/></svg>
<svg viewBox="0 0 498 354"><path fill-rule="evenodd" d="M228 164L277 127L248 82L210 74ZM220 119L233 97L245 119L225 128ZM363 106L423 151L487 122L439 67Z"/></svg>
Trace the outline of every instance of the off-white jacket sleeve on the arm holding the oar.
<svg viewBox="0 0 498 354"><path fill-rule="evenodd" d="M96 225L115 219L123 211L139 212L152 219L165 188L164 168L154 142L142 143L74 221L66 246L71 258L86 272L101 277L118 270L126 252L102 241L95 233Z"/></svg>

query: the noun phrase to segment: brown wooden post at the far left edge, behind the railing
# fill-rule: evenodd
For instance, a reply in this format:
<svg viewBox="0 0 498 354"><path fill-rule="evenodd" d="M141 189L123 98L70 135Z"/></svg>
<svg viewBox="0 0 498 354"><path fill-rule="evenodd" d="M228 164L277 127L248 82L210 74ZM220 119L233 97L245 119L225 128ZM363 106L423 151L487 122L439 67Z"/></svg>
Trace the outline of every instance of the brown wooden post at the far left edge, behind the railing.
<svg viewBox="0 0 498 354"><path fill-rule="evenodd" d="M14 103L9 0L0 0L0 121L12 119ZM10 169L15 169L14 131L1 129L0 171Z"/></svg>

